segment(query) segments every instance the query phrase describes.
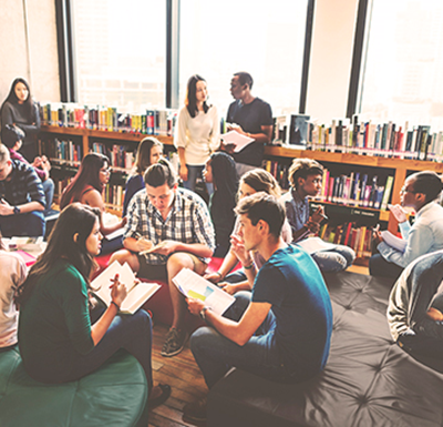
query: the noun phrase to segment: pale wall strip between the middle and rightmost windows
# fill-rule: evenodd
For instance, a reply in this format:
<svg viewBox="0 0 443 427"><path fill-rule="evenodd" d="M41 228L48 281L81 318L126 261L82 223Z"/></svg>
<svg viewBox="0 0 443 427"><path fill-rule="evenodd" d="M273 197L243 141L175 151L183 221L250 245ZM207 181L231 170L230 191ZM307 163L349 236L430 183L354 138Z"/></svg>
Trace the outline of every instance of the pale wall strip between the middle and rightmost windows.
<svg viewBox="0 0 443 427"><path fill-rule="evenodd" d="M316 0L306 113L321 123L344 118L358 0Z"/></svg>

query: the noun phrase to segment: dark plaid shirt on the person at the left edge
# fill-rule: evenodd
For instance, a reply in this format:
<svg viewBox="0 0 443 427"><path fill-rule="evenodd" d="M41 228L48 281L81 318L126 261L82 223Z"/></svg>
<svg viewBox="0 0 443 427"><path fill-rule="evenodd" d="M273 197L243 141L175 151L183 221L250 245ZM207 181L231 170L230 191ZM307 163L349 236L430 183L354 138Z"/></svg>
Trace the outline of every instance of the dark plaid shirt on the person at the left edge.
<svg viewBox="0 0 443 427"><path fill-rule="evenodd" d="M0 197L11 206L39 202L45 206L43 184L30 164L11 160L10 181L0 181Z"/></svg>

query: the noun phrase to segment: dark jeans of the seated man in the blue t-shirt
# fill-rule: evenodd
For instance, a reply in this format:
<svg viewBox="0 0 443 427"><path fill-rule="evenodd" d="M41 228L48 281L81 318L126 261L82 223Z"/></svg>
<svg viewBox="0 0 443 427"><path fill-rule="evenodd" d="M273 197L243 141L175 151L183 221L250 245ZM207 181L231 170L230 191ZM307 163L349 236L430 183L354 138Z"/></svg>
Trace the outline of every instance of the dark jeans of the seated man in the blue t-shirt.
<svg viewBox="0 0 443 427"><path fill-rule="evenodd" d="M225 317L238 321L249 305L250 293L239 292L235 297L236 302L225 313ZM275 327L276 318L269 312L256 334L244 346L226 338L213 327L197 329L190 337L190 349L207 386L212 388L231 367L274 382L295 383L297 378L288 375L280 363L272 333Z"/></svg>

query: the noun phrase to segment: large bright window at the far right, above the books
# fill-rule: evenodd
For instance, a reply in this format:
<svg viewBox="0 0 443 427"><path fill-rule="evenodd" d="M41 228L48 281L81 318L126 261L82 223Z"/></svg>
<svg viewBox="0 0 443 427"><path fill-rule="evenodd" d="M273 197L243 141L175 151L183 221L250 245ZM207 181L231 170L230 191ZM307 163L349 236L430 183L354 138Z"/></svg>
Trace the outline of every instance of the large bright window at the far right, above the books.
<svg viewBox="0 0 443 427"><path fill-rule="evenodd" d="M364 116L443 129L442 22L441 0L373 0Z"/></svg>

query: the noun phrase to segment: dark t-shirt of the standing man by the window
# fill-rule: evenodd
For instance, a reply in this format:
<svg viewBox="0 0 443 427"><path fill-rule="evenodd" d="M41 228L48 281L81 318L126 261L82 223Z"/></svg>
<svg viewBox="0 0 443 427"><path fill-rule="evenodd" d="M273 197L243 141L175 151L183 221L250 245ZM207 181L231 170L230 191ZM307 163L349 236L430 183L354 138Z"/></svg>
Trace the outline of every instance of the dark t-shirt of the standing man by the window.
<svg viewBox="0 0 443 427"><path fill-rule="evenodd" d="M249 104L237 100L229 105L227 122L239 124L245 132L262 133L261 126L272 125L272 111L270 105L259 98ZM264 144L255 141L239 153L234 153L233 157L237 163L261 166L264 151Z"/></svg>

